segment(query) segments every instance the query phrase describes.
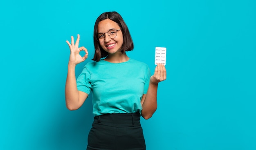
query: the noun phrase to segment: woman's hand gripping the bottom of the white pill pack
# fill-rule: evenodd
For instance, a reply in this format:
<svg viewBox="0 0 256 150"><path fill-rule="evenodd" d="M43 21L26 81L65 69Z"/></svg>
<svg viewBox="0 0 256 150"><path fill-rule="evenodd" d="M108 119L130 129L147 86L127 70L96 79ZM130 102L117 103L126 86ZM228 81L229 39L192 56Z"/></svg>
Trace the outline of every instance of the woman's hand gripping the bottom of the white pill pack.
<svg viewBox="0 0 256 150"><path fill-rule="evenodd" d="M155 73L150 77L150 83L158 84L166 79L166 69L164 64L157 64L155 67Z"/></svg>

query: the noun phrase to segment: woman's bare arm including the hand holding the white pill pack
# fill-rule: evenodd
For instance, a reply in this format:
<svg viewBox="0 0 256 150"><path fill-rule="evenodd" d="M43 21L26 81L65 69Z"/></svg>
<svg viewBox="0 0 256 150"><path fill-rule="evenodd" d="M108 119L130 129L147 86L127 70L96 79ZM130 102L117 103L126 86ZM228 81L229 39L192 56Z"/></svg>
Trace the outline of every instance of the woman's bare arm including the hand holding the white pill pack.
<svg viewBox="0 0 256 150"><path fill-rule="evenodd" d="M163 64L157 64L155 73L150 77L147 94L141 99L141 116L145 119L152 117L157 109L157 87L158 83L166 79L166 69Z"/></svg>

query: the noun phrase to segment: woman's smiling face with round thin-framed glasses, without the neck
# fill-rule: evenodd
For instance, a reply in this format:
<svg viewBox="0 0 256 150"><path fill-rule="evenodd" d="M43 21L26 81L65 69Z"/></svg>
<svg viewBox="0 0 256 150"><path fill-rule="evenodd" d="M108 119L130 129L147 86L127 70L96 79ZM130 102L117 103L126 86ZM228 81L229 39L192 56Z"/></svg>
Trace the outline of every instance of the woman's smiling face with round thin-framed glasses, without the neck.
<svg viewBox="0 0 256 150"><path fill-rule="evenodd" d="M123 33L120 30L121 28L118 26L118 24L110 19L105 19L102 20L101 22L99 22L98 25L98 37L99 35L104 34L105 38L103 42L99 42L99 44L101 45L102 49L106 52L108 52L108 54L115 54L117 52L120 52L120 49L124 43L124 39L123 39ZM108 32L110 30L119 30L116 31L117 32L117 36L115 38L110 38L108 36Z"/></svg>

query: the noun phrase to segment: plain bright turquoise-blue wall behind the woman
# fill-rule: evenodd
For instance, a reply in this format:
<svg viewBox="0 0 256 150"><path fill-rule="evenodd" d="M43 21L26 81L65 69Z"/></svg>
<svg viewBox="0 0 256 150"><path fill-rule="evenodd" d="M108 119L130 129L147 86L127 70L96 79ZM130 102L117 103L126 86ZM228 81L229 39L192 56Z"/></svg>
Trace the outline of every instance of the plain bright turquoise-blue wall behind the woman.
<svg viewBox="0 0 256 150"><path fill-rule="evenodd" d="M153 73L166 47L158 108L141 119L147 150L256 149L255 0L2 0L0 149L83 150L92 97L65 107L69 48L81 35L92 60L93 27L105 11L124 18L135 43L128 56Z"/></svg>

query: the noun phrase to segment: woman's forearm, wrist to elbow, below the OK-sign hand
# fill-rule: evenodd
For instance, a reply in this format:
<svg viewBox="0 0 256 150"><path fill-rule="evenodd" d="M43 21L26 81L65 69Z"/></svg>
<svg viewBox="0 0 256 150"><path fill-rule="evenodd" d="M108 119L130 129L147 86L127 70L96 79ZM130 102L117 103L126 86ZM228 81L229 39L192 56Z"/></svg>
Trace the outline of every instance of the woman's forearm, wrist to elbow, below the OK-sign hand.
<svg viewBox="0 0 256 150"><path fill-rule="evenodd" d="M68 65L67 80L65 86L66 106L69 110L79 108L79 92L76 87L75 65Z"/></svg>

